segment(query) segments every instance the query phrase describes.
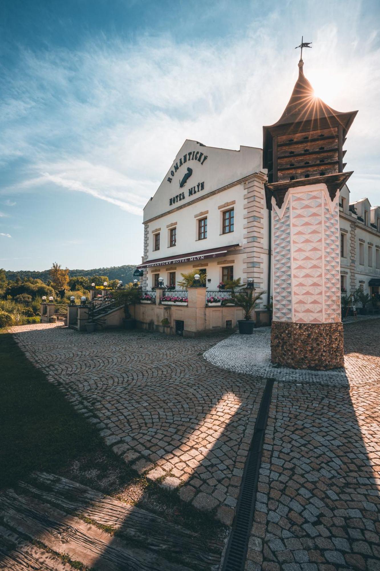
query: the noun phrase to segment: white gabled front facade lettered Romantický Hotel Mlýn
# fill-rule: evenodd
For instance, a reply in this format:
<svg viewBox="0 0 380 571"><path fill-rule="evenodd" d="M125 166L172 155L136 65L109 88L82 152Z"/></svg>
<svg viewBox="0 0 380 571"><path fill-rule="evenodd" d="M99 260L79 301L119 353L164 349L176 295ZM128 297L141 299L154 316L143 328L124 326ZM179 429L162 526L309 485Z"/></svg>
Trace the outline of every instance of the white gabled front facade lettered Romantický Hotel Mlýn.
<svg viewBox="0 0 380 571"><path fill-rule="evenodd" d="M227 279L268 272L261 149L234 151L186 140L144 208L145 289L176 286L181 273L207 273L216 290ZM266 254L266 255L265 255Z"/></svg>

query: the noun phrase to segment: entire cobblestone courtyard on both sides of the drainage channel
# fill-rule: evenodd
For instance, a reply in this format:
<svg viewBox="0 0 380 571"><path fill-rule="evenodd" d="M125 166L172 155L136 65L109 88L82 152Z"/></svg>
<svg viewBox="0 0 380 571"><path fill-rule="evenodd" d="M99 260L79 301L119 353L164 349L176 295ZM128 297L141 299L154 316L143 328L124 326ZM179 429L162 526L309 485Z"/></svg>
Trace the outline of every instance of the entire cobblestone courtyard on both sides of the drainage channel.
<svg viewBox="0 0 380 571"><path fill-rule="evenodd" d="M263 366L236 364L243 340L263 353L254 336L15 331L115 452L231 524L265 384ZM269 374L276 382L246 571L380 569L379 332L379 319L346 325L346 371ZM215 361L226 348L224 368L203 357Z"/></svg>

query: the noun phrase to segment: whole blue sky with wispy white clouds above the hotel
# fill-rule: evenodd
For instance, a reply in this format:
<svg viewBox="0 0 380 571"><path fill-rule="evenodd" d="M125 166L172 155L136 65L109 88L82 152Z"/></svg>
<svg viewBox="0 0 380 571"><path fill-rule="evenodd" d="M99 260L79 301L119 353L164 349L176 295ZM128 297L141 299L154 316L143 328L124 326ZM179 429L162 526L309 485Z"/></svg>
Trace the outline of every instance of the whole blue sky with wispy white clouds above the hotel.
<svg viewBox="0 0 380 571"><path fill-rule="evenodd" d="M380 203L380 5L2 0L0 267L134 264L185 139L261 147L304 71L339 111L351 201Z"/></svg>

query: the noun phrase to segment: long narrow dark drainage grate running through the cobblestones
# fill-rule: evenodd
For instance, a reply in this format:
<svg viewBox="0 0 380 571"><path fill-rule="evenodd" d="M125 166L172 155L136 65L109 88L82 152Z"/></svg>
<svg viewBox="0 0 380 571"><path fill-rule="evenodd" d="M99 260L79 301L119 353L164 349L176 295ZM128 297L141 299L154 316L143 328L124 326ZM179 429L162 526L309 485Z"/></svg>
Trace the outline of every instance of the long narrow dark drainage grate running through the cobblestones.
<svg viewBox="0 0 380 571"><path fill-rule="evenodd" d="M261 463L262 443L268 421L270 399L274 379L268 379L262 395L252 441L241 479L240 494L236 506L236 515L225 553L222 571L244 571L250 529L252 527L254 504Z"/></svg>

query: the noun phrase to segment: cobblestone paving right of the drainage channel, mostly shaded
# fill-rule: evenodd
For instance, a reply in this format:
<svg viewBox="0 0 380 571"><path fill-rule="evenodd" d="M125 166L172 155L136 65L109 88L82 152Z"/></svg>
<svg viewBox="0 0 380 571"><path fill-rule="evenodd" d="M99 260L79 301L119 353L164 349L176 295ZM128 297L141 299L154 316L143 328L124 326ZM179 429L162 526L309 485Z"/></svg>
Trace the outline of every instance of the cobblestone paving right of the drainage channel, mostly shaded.
<svg viewBox="0 0 380 571"><path fill-rule="evenodd" d="M379 333L345 328L347 385L274 384L246 571L379 571Z"/></svg>

